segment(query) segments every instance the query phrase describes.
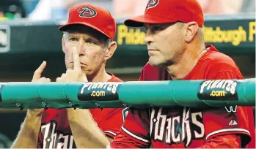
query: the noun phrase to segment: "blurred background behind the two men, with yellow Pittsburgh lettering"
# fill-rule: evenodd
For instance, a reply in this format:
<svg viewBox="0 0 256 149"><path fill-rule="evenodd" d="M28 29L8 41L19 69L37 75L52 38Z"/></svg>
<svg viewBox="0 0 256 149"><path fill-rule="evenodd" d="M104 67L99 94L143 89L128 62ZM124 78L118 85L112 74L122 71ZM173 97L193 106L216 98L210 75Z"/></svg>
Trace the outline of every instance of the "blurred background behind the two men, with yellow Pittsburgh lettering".
<svg viewBox="0 0 256 149"><path fill-rule="evenodd" d="M143 28L127 28L122 21L142 15L148 0L0 0L0 82L31 81L42 61L45 77L65 72L62 32L58 27L76 4L109 9L117 20L118 47L107 63L122 80L138 80L147 63ZM198 0L205 13L205 42L231 56L245 78L255 77L255 0ZM225 38L223 39L224 36ZM0 148L9 148L26 110L0 108Z"/></svg>

